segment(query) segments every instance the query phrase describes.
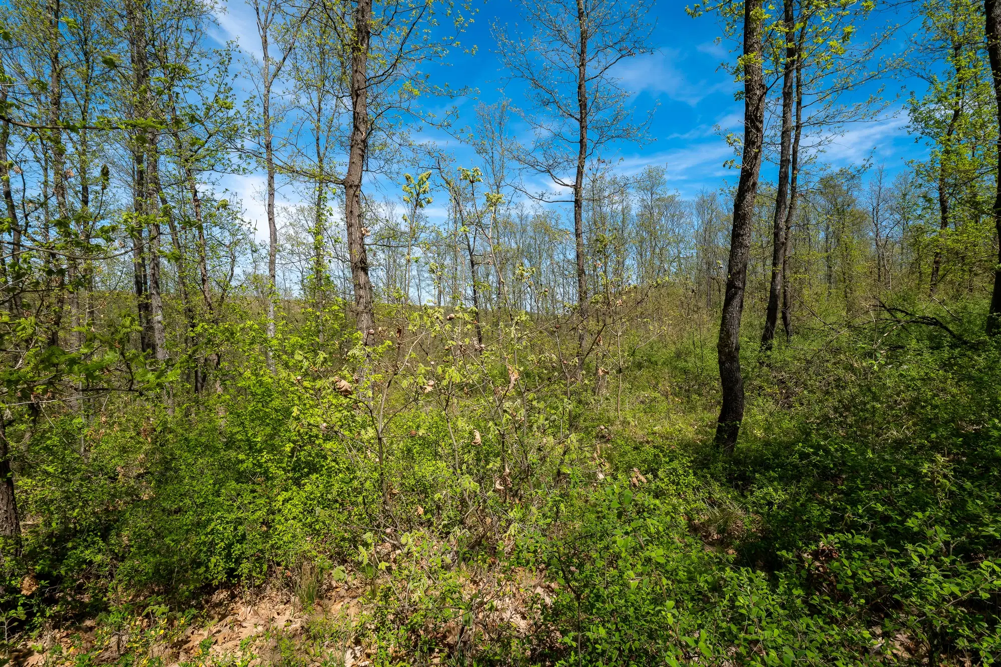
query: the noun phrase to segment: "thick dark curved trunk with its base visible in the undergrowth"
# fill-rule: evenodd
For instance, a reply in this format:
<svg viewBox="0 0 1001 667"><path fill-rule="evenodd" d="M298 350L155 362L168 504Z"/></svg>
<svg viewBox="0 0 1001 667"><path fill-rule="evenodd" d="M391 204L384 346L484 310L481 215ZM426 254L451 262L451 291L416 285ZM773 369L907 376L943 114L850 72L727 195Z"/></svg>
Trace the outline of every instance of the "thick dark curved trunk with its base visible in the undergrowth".
<svg viewBox="0 0 1001 667"><path fill-rule="evenodd" d="M723 300L717 344L723 407L716 428L717 446L733 452L744 420L744 378L741 374L741 316L747 285L751 227L754 220L761 148L765 129L765 83L762 77L761 0L744 4L744 153L734 198L730 233L727 291Z"/></svg>

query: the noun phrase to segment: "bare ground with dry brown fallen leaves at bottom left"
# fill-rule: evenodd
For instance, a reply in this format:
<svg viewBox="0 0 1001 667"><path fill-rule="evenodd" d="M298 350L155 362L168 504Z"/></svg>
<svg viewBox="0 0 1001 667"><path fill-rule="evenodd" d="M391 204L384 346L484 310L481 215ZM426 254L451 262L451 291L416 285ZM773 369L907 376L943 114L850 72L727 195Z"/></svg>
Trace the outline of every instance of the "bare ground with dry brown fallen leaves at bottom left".
<svg viewBox="0 0 1001 667"><path fill-rule="evenodd" d="M383 543L387 560L394 547ZM524 569L513 578L493 572L460 568L462 587L481 596L471 619L453 620L417 630L435 648L409 656L415 664L437 665L461 659L472 635L481 642L498 633L531 639L538 610L530 597L549 602L553 583ZM164 667L367 667L378 646L373 638L373 593L392 585L389 578L371 582L361 576L338 581L330 573L308 582L303 599L299 574L279 572L256 589L220 588L206 595L187 618L161 622L156 609L132 614L124 627L106 614L75 626L44 631L14 652L18 667L79 667L79 665L158 664ZM125 605L129 606L128 604ZM140 604L138 608L143 606ZM118 625L118 627L115 627ZM405 660L401 652L391 656Z"/></svg>

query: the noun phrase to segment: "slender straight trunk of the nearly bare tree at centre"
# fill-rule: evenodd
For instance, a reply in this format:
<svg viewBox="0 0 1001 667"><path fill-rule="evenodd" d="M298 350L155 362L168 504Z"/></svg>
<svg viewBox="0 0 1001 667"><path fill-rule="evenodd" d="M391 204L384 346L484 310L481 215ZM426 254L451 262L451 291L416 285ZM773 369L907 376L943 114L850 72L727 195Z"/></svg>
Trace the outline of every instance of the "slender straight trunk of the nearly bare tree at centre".
<svg viewBox="0 0 1001 667"><path fill-rule="evenodd" d="M577 377L584 372L585 329L588 318L588 275L585 271L584 248L584 174L588 160L588 37L591 27L584 0L577 0L577 23L580 31L580 52L577 62L578 148L577 172L574 178L574 242L577 252L577 306L581 323L577 332Z"/></svg>

